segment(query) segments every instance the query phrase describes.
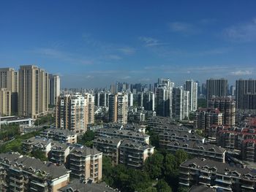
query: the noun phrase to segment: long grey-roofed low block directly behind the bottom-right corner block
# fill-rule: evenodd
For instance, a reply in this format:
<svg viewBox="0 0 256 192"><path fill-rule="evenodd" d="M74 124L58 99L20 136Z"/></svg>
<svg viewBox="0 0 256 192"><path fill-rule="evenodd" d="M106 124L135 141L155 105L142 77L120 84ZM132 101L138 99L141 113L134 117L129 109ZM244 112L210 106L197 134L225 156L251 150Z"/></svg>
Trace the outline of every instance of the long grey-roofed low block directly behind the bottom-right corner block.
<svg viewBox="0 0 256 192"><path fill-rule="evenodd" d="M225 152L226 150L222 147L217 147L216 145L211 145L208 143L198 143L195 141L182 141L176 140L167 143L166 145L161 145L171 153L175 153L176 150L184 150L190 155L195 157L209 158L214 161L225 162Z"/></svg>

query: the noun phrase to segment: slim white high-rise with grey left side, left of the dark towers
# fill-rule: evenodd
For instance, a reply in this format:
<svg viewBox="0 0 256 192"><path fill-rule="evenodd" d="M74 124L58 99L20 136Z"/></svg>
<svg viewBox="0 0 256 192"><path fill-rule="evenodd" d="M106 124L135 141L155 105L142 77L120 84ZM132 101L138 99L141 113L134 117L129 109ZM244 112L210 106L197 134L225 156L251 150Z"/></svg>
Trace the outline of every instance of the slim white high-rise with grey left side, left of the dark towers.
<svg viewBox="0 0 256 192"><path fill-rule="evenodd" d="M185 90L189 91L189 111L197 110L197 82L193 80L186 81Z"/></svg>

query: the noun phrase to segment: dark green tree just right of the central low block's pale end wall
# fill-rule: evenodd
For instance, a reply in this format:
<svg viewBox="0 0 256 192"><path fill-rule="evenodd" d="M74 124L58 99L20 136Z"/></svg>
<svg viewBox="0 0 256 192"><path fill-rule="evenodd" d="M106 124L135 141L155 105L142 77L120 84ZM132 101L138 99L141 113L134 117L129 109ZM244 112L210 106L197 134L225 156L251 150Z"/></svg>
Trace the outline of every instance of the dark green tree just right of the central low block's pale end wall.
<svg viewBox="0 0 256 192"><path fill-rule="evenodd" d="M161 153L154 153L148 157L144 164L144 170L150 175L152 179L162 177L164 155Z"/></svg>

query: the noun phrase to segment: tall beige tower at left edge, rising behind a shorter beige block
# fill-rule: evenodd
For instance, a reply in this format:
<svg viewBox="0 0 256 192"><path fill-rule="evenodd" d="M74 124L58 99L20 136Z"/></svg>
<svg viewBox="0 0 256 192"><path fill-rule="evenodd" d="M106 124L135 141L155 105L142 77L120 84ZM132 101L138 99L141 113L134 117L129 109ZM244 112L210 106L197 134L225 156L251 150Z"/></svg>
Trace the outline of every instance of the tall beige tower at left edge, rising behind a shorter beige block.
<svg viewBox="0 0 256 192"><path fill-rule="evenodd" d="M0 89L11 91L10 114L18 112L18 72L12 68L0 68Z"/></svg>

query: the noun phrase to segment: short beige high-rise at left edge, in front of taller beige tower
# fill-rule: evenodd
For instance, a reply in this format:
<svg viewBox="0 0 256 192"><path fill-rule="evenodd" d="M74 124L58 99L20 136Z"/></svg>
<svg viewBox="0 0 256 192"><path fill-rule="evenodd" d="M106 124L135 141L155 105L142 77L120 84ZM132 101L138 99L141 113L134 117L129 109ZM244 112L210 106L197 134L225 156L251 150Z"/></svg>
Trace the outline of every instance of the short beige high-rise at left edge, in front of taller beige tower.
<svg viewBox="0 0 256 192"><path fill-rule="evenodd" d="M0 88L0 115L11 115L11 91L7 88Z"/></svg>

